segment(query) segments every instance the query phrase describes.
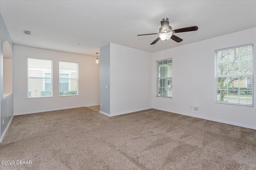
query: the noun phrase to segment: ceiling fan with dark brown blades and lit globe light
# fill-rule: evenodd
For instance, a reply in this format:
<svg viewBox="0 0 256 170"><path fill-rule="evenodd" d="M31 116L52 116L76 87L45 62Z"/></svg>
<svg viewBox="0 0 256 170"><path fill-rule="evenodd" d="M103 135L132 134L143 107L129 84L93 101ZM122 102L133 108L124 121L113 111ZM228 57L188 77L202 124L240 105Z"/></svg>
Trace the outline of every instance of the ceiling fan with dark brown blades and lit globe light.
<svg viewBox="0 0 256 170"><path fill-rule="evenodd" d="M165 41L168 39L172 39L172 40L176 41L177 43L180 43L181 41L183 41L183 39L177 37L176 35L173 35L173 33L182 33L182 32L188 32L188 31L196 31L196 30L198 30L197 26L172 30L172 27L169 25L169 18L164 18L161 21L161 27L159 28L159 33L140 34L137 36L158 34L159 37L155 41L153 41L150 45L155 44L160 39L165 40Z"/></svg>

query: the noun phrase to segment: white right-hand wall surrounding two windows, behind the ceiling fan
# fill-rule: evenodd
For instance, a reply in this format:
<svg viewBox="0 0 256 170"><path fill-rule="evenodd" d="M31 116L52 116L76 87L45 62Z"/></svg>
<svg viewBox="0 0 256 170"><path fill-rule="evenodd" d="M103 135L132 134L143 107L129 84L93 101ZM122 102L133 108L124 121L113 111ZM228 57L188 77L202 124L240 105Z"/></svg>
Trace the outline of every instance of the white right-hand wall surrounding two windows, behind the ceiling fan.
<svg viewBox="0 0 256 170"><path fill-rule="evenodd" d="M152 107L256 129L255 102L254 107L214 102L214 50L249 43L254 43L255 90L256 28L153 53ZM156 97L155 62L170 57L173 60L173 98ZM254 101L255 94L254 91ZM199 106L199 110L190 109L191 105Z"/></svg>

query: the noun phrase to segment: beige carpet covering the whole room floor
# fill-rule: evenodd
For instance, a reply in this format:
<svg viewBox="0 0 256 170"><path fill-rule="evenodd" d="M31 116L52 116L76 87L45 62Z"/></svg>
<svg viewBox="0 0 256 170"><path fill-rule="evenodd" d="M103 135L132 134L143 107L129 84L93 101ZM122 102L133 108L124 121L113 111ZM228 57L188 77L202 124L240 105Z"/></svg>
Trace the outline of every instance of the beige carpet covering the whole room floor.
<svg viewBox="0 0 256 170"><path fill-rule="evenodd" d="M149 109L107 117L87 107L14 116L1 170L256 169L256 130Z"/></svg>

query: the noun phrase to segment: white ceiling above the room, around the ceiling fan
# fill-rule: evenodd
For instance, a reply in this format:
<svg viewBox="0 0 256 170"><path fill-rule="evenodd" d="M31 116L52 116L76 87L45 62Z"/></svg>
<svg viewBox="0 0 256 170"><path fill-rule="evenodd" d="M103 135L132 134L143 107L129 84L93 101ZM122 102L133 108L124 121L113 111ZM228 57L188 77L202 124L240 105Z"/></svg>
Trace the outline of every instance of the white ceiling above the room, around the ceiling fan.
<svg viewBox="0 0 256 170"><path fill-rule="evenodd" d="M156 52L256 27L255 0L0 0L0 12L16 45L89 56L108 43ZM158 33L163 18L172 29L199 29L176 33L181 43L136 36Z"/></svg>

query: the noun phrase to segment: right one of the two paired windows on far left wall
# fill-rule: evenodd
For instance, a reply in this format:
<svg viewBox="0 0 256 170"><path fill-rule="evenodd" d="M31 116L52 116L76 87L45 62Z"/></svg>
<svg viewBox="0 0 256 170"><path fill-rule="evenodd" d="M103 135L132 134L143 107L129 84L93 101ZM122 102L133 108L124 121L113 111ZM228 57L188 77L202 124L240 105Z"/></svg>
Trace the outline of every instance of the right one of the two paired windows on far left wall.
<svg viewBox="0 0 256 170"><path fill-rule="evenodd" d="M59 61L59 94L78 95L78 63Z"/></svg>

